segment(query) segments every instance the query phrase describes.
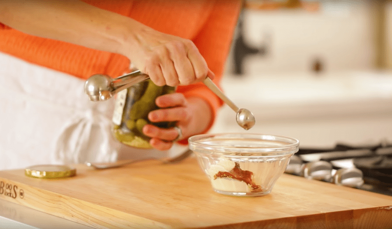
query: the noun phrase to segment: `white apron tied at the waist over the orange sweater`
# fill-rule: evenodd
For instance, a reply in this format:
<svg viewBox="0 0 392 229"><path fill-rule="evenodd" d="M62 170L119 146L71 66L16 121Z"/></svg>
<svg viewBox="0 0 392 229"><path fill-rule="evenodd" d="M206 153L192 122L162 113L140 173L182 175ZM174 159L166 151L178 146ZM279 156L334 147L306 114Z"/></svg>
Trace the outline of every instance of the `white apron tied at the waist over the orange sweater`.
<svg viewBox="0 0 392 229"><path fill-rule="evenodd" d="M180 153L178 147L162 152L117 142L114 99L89 101L82 79L0 53L0 80L0 170Z"/></svg>

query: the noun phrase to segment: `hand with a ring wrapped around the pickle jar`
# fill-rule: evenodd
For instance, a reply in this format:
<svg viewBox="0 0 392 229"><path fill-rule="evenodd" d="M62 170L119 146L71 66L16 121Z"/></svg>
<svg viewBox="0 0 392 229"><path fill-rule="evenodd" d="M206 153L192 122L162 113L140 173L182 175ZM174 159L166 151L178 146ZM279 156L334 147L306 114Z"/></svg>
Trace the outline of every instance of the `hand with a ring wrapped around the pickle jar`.
<svg viewBox="0 0 392 229"><path fill-rule="evenodd" d="M185 98L182 93L172 93L158 97L156 104L161 108L149 112L151 122L177 122L182 131L182 139L203 132L212 119L209 105L202 99ZM149 143L157 150L169 150L178 132L174 128L159 128L153 125L143 127L143 133L151 137Z"/></svg>

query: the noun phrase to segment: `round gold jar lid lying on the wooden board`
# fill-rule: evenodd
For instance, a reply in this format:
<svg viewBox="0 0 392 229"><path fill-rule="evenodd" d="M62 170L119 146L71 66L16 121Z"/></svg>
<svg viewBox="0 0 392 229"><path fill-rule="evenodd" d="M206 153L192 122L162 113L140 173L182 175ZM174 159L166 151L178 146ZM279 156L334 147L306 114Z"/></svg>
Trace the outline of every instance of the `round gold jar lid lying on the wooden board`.
<svg viewBox="0 0 392 229"><path fill-rule="evenodd" d="M32 178L68 178L76 175L76 169L68 165L34 165L25 169Z"/></svg>

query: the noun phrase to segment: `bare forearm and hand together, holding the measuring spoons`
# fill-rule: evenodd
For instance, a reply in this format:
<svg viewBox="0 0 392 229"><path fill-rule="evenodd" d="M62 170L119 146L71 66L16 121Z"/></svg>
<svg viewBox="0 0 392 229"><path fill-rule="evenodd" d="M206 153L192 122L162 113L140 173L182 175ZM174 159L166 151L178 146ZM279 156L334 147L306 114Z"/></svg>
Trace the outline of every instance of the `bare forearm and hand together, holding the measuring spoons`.
<svg viewBox="0 0 392 229"><path fill-rule="evenodd" d="M207 63L191 40L80 0L3 0L0 12L12 12L0 14L0 21L27 34L122 54L158 86L189 85L207 76Z"/></svg>

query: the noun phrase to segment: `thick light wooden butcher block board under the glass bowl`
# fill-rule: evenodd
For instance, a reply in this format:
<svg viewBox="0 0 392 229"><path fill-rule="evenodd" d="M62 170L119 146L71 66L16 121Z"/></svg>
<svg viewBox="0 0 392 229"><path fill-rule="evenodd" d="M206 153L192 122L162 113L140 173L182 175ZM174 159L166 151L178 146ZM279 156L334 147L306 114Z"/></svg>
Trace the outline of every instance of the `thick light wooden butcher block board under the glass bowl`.
<svg viewBox="0 0 392 229"><path fill-rule="evenodd" d="M262 197L215 193L194 157L63 179L0 171L0 199L93 228L391 229L392 197L282 175Z"/></svg>

